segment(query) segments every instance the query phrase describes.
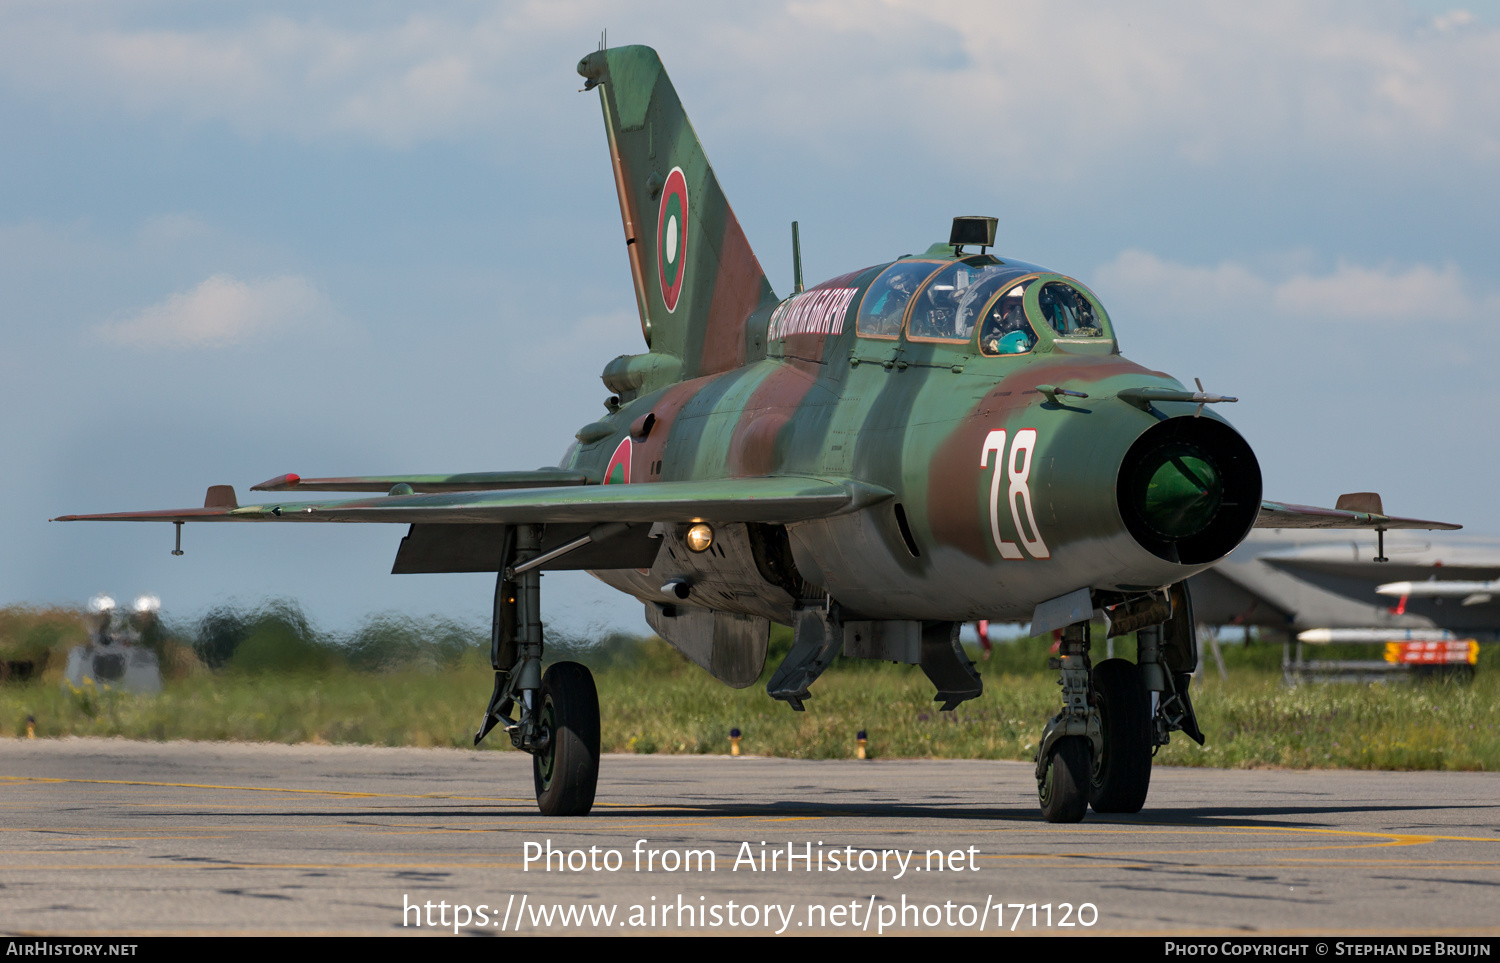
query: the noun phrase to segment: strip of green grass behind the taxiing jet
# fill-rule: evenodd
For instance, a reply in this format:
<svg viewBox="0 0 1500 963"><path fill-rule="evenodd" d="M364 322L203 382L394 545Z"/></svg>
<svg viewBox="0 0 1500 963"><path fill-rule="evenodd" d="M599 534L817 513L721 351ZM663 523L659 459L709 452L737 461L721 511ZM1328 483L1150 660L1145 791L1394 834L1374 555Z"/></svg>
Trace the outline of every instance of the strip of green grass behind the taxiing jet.
<svg viewBox="0 0 1500 963"><path fill-rule="evenodd" d="M372 620L352 638L328 642L315 639L294 614L273 609L236 622L238 634L230 634L237 642L230 645L224 614L214 618L213 632L162 642L172 657L158 696L68 687L56 657L40 678L0 686L0 738L22 736L27 717L34 717L42 738L472 744L492 682L488 652L474 633ZM24 639L76 639L57 610L30 621L0 610L0 632L6 626L20 626L15 632ZM45 627L42 636L36 626ZM778 633L768 664L786 642ZM568 652L567 645L555 650ZM1102 650L1096 646L1096 657ZM194 652L220 668L210 670L208 658ZM616 639L572 654L594 668L604 752L724 753L729 730L738 728L746 753L848 759L864 729L873 758L1030 759L1059 698L1056 674L1044 668L1047 640L1036 639L998 645L980 663L984 696L954 712L938 711L932 686L915 666L840 660L813 686L807 711L794 712L765 694L764 676L746 690L726 688L663 642ZM1122 640L1116 654L1132 657L1134 645ZM1227 681L1210 660L1194 684L1208 746L1178 734L1158 762L1500 770L1500 666L1494 664L1500 651L1485 650L1468 686L1299 688L1281 684L1280 645L1232 645L1224 656ZM492 735L484 748L508 748L508 741Z"/></svg>

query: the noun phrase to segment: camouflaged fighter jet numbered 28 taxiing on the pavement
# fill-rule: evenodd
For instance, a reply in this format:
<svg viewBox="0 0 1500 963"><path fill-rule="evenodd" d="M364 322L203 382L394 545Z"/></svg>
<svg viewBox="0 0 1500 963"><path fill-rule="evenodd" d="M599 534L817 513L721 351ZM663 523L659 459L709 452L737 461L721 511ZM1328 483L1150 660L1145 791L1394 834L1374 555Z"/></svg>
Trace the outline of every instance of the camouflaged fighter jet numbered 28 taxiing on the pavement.
<svg viewBox="0 0 1500 963"><path fill-rule="evenodd" d="M982 682L958 644L981 618L1060 630L1062 706L1036 754L1041 810L1138 812L1173 730L1202 742L1185 580L1254 525L1456 528L1262 501L1260 468L1215 410L1120 356L1080 280L992 254L996 219L778 297L656 51L598 50L597 90L645 350L604 364L604 416L556 468L303 478L273 492L354 500L66 516L388 522L393 572L495 572L494 728L532 754L537 802L584 814L598 777L588 670L543 672L540 579L585 568L734 687L762 674L771 622L794 645L768 692L794 710L842 650L916 664L945 710ZM903 243L904 242L898 242ZM795 250L795 242L794 242ZM1358 500L1354 500L1358 502ZM1138 660L1090 658L1090 622Z"/></svg>

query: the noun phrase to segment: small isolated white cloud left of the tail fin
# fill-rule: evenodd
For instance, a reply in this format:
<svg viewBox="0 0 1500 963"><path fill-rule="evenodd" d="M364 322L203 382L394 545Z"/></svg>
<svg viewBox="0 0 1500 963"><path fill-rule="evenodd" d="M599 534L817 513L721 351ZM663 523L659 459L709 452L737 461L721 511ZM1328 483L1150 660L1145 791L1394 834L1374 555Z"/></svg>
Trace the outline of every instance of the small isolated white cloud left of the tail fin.
<svg viewBox="0 0 1500 963"><path fill-rule="evenodd" d="M128 318L93 330L100 340L132 348L222 348L332 316L328 300L304 278L244 282L213 274Z"/></svg>

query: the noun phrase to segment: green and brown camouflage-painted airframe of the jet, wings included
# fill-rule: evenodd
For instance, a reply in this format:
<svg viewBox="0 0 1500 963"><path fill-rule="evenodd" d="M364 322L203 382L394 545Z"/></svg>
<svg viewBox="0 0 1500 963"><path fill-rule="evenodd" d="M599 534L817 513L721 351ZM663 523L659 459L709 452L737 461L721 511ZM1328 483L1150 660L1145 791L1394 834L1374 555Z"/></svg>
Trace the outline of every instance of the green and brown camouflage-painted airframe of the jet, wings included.
<svg viewBox="0 0 1500 963"><path fill-rule="evenodd" d="M572 534L594 522L633 522L642 540L644 525L657 524L660 542L640 560L654 556L650 568L596 574L648 609L682 602L663 584L686 578L687 606L786 624L798 608L830 602L846 620L960 622L1023 621L1038 603L1080 588L1125 598L1208 568L1257 513L1276 526L1454 528L1263 506L1258 466L1227 422L1179 381L1122 357L1096 298L1046 268L945 243L903 258L1038 279L1026 294L1036 342L1012 356L981 352L978 326L963 344L904 330L856 334L864 294L886 264L778 298L656 51L602 50L579 74L603 105L646 351L604 368L615 393L608 414L579 429L556 470L280 476L255 488L390 495L242 508L230 490L210 492L204 508L64 518L410 522L412 537L426 525L489 525L494 540L507 525L534 522ZM1036 321L1036 291L1048 280L1092 300L1096 336L1065 338ZM1218 465L1239 492L1239 504L1226 498L1220 510L1234 516L1224 522L1233 531L1194 558L1143 544L1122 512L1122 466L1132 446L1164 424L1218 432L1230 448L1242 447ZM990 447L996 432L1010 447ZM698 520L716 526L704 554L681 540L684 525ZM478 531L483 540L489 530ZM795 570L766 548L783 531ZM488 566L454 555L444 568L446 543L432 544L440 561L422 570ZM552 544L556 538L544 548Z"/></svg>

